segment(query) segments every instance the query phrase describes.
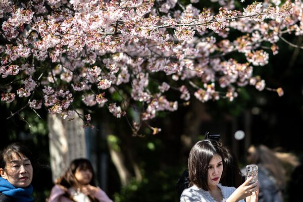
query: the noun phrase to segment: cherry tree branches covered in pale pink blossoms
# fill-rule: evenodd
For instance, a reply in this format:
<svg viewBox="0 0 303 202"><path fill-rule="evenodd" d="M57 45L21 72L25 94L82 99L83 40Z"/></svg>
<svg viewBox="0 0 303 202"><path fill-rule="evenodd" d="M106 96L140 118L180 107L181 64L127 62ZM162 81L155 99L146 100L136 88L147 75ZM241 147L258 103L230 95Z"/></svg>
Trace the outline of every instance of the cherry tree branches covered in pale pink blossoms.
<svg viewBox="0 0 303 202"><path fill-rule="evenodd" d="M142 122L192 97L232 101L248 85L282 96L254 68L278 54L280 39L291 44L283 35L303 34L303 3L242 0L236 10L233 0L212 2L221 8L198 9L196 0L1 0L1 100L26 100L11 117L46 109L86 126L90 114L75 109L107 108L137 120L137 134Z"/></svg>

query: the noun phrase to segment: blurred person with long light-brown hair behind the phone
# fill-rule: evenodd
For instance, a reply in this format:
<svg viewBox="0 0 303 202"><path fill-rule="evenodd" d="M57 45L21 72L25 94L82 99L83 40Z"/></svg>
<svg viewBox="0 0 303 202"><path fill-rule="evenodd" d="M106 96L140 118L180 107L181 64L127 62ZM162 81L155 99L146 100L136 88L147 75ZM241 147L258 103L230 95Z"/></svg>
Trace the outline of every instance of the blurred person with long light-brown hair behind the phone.
<svg viewBox="0 0 303 202"><path fill-rule="evenodd" d="M286 170L274 151L265 145L251 145L247 150L247 163L259 167L259 202L282 202Z"/></svg>

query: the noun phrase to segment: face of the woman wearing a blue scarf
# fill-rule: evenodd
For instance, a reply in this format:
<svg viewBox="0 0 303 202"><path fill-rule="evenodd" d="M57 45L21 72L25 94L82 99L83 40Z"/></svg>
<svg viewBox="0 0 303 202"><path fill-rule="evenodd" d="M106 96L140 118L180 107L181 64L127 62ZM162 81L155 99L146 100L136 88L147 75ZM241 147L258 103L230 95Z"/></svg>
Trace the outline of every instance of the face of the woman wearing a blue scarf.
<svg viewBox="0 0 303 202"><path fill-rule="evenodd" d="M6 163L5 169L0 168L1 176L16 188L27 187L33 178L33 167L28 158L14 155L11 162Z"/></svg>

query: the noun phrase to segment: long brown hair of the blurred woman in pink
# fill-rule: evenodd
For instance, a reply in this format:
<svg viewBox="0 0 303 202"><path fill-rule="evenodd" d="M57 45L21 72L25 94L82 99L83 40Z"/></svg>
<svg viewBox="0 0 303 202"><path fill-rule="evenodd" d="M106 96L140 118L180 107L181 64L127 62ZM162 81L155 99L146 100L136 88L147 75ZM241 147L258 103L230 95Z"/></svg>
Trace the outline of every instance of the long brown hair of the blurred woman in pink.
<svg viewBox="0 0 303 202"><path fill-rule="evenodd" d="M95 174L94 174L92 165L91 165L90 161L85 158L74 159L70 163L70 165L67 168L67 170L65 171L65 173L57 180L56 184L60 184L67 188L79 186L78 181L75 177L75 173L76 173L77 169L90 170L90 172L92 173L92 178L91 178L91 181L89 182L89 184L92 186L96 186Z"/></svg>

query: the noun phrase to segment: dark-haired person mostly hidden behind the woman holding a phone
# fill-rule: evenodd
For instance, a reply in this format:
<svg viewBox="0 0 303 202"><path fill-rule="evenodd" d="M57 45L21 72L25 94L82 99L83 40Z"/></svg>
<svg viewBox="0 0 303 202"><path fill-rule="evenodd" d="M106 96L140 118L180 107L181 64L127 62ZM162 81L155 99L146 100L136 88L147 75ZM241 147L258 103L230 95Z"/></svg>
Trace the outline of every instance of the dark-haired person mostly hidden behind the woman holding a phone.
<svg viewBox="0 0 303 202"><path fill-rule="evenodd" d="M209 132L206 133L205 139L212 139L214 141L217 141L223 150L224 154L224 162L226 167L226 175L221 178L221 184L223 186L233 186L238 187L240 186L244 181L245 177L243 179L241 171L239 169L238 160L233 151L222 145L222 141L220 139L220 134L211 134ZM178 179L176 188L179 196L181 196L184 189L189 187L189 179L188 179L188 169L186 169L181 177Z"/></svg>

